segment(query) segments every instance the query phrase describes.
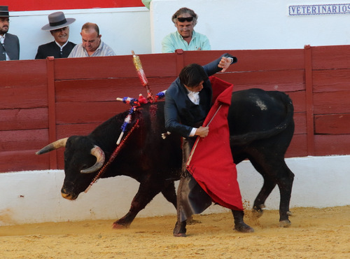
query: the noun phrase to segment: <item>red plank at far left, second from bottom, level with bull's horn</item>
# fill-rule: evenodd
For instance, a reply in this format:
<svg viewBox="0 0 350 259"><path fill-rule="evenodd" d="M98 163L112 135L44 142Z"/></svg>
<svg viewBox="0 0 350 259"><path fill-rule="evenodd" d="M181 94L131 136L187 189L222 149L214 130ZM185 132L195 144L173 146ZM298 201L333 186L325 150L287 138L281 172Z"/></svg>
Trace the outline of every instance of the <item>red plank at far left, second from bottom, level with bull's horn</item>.
<svg viewBox="0 0 350 259"><path fill-rule="evenodd" d="M1 131L0 151L25 151L45 146L48 130L8 130Z"/></svg>

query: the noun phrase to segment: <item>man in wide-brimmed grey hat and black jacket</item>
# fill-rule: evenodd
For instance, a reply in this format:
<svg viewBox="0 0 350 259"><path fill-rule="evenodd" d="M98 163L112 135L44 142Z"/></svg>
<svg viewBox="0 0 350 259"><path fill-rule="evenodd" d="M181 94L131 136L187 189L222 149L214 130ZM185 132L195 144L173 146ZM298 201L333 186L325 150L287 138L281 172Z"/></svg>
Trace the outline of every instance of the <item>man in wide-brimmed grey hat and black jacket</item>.
<svg viewBox="0 0 350 259"><path fill-rule="evenodd" d="M73 50L76 43L68 41L69 26L75 22L74 18L65 18L64 13L55 12L48 15L49 23L42 27L44 31L50 31L55 41L39 45L38 52L35 59L45 59L53 56L55 58L68 57L71 50Z"/></svg>

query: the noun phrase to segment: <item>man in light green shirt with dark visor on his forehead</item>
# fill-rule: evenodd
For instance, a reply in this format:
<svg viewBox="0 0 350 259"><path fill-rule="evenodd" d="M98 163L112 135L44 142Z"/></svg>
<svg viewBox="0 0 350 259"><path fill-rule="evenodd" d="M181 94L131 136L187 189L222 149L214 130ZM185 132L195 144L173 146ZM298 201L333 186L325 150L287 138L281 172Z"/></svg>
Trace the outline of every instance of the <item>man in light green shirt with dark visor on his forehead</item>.
<svg viewBox="0 0 350 259"><path fill-rule="evenodd" d="M172 53L182 50L211 50L209 39L193 28L197 24L198 15L189 8L180 8L172 16L177 31L163 38L162 52Z"/></svg>

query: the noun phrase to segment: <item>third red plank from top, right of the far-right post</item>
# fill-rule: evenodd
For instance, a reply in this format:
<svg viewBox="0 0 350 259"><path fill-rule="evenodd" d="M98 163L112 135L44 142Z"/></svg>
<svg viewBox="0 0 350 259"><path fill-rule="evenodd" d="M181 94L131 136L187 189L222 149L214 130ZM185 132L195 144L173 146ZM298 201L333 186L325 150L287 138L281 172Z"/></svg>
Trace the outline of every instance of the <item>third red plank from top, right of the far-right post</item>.
<svg viewBox="0 0 350 259"><path fill-rule="evenodd" d="M350 89L314 93L314 114L350 113Z"/></svg>

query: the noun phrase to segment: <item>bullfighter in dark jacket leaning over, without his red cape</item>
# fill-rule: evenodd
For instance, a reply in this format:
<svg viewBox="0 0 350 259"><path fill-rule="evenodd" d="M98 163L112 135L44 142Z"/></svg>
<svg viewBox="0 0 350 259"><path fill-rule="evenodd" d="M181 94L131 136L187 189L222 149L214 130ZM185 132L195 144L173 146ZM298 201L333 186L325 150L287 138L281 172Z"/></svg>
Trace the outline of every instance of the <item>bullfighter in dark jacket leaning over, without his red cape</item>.
<svg viewBox="0 0 350 259"><path fill-rule="evenodd" d="M226 71L237 58L225 53L213 62L200 66L185 66L179 77L165 92L165 127L167 131L183 137L183 174L177 193L177 222L175 237L186 237L186 219L200 214L211 205L211 197L200 187L186 170L186 162L197 136L209 134L209 127L202 123L212 106L213 90L209 76ZM253 232L253 228L243 221L244 212L232 210L235 229L239 232Z"/></svg>

